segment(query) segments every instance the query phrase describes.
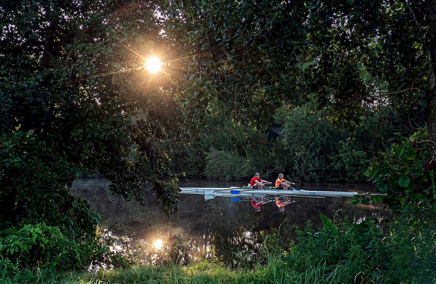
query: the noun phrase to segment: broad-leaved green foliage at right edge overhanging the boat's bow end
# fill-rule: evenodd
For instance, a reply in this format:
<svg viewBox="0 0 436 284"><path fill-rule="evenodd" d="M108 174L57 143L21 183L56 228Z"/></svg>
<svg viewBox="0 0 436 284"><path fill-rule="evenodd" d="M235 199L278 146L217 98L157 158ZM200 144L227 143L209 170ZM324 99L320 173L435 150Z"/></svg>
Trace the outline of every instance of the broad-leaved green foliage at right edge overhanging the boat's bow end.
<svg viewBox="0 0 436 284"><path fill-rule="evenodd" d="M398 133L400 135L400 133ZM436 210L436 189L434 160L429 149L433 141L424 129L411 137L399 137L391 149L381 152L368 163L365 176L376 184L375 190L381 195L355 196L352 204L375 203L388 204L392 210L404 208L410 202L425 202Z"/></svg>

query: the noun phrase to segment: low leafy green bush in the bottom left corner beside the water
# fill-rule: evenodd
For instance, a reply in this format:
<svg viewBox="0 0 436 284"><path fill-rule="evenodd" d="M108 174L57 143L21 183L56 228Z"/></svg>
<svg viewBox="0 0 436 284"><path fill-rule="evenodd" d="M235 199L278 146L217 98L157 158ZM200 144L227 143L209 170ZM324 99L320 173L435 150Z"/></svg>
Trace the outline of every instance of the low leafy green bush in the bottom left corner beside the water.
<svg viewBox="0 0 436 284"><path fill-rule="evenodd" d="M19 267L83 269L94 260L95 265L125 265L123 257L110 252L106 241L71 239L58 227L44 223L9 227L0 230L0 274L4 277Z"/></svg>

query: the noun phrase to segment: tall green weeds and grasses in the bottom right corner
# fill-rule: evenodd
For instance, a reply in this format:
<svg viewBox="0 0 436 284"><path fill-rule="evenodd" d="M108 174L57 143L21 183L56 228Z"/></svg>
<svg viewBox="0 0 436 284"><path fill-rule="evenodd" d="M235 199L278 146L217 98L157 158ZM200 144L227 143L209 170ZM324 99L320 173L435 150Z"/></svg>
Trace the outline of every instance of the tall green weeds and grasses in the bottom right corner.
<svg viewBox="0 0 436 284"><path fill-rule="evenodd" d="M380 232L374 218L344 223L339 229L321 216L324 227L315 231L307 222L305 230L297 230L298 244L289 250L280 248L279 237L269 236L270 273L257 283L433 283L436 222L429 212L411 207L392 221L386 233Z"/></svg>

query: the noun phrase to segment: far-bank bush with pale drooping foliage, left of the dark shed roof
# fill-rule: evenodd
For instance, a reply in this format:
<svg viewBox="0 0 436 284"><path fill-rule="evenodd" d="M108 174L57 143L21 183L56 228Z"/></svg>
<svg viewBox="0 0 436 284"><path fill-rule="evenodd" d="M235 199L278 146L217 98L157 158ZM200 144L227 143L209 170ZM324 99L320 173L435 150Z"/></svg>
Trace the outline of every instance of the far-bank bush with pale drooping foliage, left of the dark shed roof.
<svg viewBox="0 0 436 284"><path fill-rule="evenodd" d="M254 172L269 175L271 148L266 135L255 125L247 125L215 108L206 115L207 127L189 144L171 145L169 166L187 176L243 179Z"/></svg>

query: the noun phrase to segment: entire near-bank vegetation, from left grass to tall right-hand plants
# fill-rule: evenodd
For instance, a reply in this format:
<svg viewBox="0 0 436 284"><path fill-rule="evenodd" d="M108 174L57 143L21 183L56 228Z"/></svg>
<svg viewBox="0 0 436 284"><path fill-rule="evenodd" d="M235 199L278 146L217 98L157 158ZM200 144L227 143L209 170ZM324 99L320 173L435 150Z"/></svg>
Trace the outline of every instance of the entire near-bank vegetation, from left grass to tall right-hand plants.
<svg viewBox="0 0 436 284"><path fill-rule="evenodd" d="M381 233L378 220L343 223L337 227L321 215L324 227L312 230L307 222L297 229L295 242L283 234L266 236L263 257L252 260L237 254L238 266L214 259L181 265L167 254L154 265L132 264L99 270L54 270L49 266L16 268L0 284L139 284L139 283L422 283L436 281L434 240L436 222L427 206L408 206ZM426 227L422 230L422 227ZM177 250L177 246L174 248ZM171 258L171 256L173 258Z"/></svg>

